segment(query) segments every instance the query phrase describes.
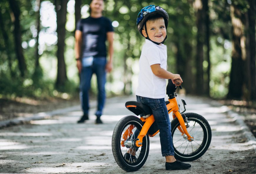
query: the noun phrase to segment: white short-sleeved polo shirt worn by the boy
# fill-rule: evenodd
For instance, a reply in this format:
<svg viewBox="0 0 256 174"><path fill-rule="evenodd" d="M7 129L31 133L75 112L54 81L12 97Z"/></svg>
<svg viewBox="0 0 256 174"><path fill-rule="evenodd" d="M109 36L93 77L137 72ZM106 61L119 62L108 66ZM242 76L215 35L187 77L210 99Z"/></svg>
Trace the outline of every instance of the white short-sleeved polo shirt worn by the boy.
<svg viewBox="0 0 256 174"><path fill-rule="evenodd" d="M160 64L164 70L167 69L166 45L157 45L146 39L139 58L139 84L135 92L141 97L160 99L166 96L166 80L153 74L151 65Z"/></svg>

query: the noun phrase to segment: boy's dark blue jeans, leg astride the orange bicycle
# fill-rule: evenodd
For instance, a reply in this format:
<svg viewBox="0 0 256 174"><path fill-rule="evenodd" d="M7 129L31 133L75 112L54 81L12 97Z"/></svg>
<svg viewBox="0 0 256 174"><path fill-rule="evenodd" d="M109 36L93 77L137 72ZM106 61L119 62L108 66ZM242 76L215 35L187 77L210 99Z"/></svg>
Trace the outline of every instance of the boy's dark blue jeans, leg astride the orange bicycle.
<svg viewBox="0 0 256 174"><path fill-rule="evenodd" d="M137 102L148 105L153 112L155 121L159 128L159 136L161 143L162 156L174 156L172 133L171 133L171 123L169 119L168 110L164 101L162 99L152 99L147 97L136 96Z"/></svg>

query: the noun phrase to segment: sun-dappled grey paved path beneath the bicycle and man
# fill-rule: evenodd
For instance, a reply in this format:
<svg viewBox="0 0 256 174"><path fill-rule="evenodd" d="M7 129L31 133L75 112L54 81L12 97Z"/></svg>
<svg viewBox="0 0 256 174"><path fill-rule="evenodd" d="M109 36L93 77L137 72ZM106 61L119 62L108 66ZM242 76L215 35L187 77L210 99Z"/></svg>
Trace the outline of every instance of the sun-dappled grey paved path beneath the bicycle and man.
<svg viewBox="0 0 256 174"><path fill-rule="evenodd" d="M227 116L227 107L204 98L181 98L187 103L187 112L201 114L209 121L209 150L190 162L188 170L166 171L157 135L150 138L147 162L136 174L256 173L255 142L248 141L244 129ZM95 109L89 121L77 124L82 112L76 107L50 119L0 129L0 173L126 173L114 161L111 138L117 121L132 114L124 107L128 100L135 97L107 99L102 125L94 124Z"/></svg>

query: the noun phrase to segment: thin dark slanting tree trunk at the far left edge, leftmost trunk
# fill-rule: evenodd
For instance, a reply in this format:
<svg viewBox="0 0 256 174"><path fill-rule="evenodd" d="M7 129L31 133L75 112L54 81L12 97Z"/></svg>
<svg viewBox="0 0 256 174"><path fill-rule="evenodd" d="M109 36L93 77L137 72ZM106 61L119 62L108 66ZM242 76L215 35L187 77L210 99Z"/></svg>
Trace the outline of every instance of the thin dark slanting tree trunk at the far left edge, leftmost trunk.
<svg viewBox="0 0 256 174"><path fill-rule="evenodd" d="M14 72L11 68L12 60L11 60L11 52L9 50L9 46L10 46L9 45L9 37L4 29L4 19L3 19L2 13L1 13L1 7L0 7L0 28L1 28L1 33L3 35L3 38L4 38L4 45L5 45L6 55L8 58L8 66L10 69L10 75L11 75L11 77L14 77Z"/></svg>

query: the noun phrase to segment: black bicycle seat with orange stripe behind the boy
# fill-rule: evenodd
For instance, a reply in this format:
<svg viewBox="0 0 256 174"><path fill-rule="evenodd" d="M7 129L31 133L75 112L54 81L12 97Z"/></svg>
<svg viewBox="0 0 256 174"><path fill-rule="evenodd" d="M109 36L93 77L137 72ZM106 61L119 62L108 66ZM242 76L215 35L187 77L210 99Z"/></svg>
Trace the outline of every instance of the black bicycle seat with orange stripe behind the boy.
<svg viewBox="0 0 256 174"><path fill-rule="evenodd" d="M146 118L152 114L152 109L140 102L129 101L125 103L125 107L134 114L140 115L140 117L144 116Z"/></svg>

